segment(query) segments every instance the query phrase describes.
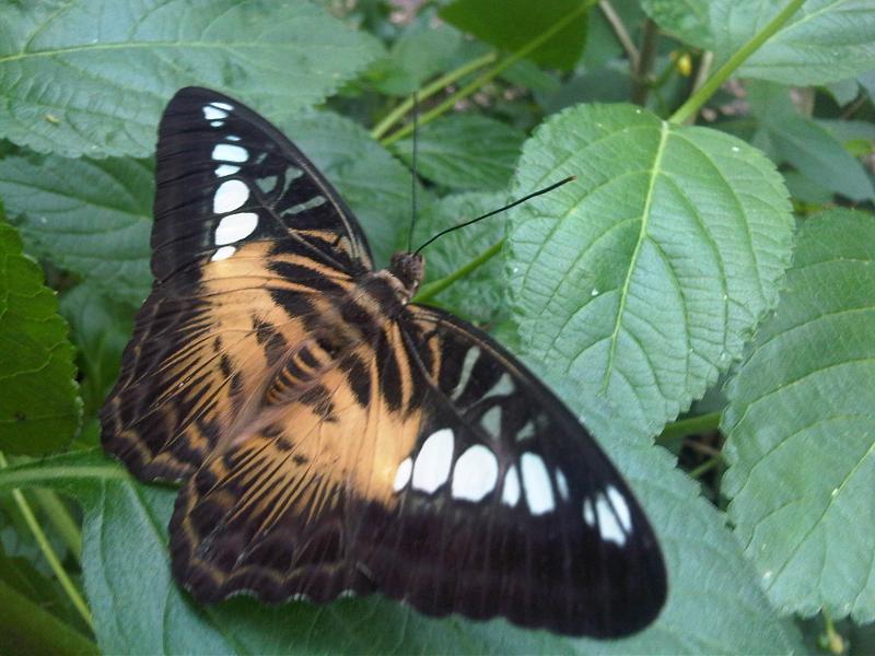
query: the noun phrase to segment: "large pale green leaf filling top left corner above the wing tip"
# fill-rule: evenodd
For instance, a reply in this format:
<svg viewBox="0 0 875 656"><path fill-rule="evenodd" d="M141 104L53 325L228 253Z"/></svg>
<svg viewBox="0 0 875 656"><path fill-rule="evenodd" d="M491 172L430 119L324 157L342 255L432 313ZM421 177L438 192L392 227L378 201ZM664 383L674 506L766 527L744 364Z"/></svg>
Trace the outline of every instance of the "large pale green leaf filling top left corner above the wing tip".
<svg viewBox="0 0 875 656"><path fill-rule="evenodd" d="M0 136L39 152L144 156L173 93L209 86L278 119L380 54L310 2L44 0L0 7Z"/></svg>

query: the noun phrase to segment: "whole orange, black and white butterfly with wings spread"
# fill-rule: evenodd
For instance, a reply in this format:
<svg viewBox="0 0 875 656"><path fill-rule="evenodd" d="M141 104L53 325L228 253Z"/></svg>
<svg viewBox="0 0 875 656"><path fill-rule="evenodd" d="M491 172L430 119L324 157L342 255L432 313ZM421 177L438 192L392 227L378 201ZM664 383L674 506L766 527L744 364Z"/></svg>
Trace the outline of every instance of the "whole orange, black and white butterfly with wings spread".
<svg viewBox="0 0 875 656"><path fill-rule="evenodd" d="M182 482L176 581L211 602L380 590L431 616L621 636L667 584L639 503L486 332L411 303L355 216L242 103L183 89L158 142L154 283L104 448Z"/></svg>

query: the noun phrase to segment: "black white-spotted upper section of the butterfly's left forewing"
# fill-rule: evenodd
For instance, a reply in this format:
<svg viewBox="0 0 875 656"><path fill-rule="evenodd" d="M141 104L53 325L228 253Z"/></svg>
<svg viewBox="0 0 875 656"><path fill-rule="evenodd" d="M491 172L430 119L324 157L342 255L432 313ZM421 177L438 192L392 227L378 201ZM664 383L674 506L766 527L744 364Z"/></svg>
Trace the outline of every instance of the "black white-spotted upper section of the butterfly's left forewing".
<svg viewBox="0 0 875 656"><path fill-rule="evenodd" d="M278 247L291 241L352 277L372 268L364 233L340 195L242 103L207 89L178 91L161 118L156 157L152 272L159 282L197 278L205 260L253 241Z"/></svg>

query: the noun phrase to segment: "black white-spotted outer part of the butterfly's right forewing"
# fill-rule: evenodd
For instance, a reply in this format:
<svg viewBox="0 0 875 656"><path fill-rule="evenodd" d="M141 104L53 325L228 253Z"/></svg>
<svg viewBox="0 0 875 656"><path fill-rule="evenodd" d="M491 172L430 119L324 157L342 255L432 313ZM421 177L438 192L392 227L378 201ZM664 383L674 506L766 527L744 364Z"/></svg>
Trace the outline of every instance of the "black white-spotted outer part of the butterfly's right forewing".
<svg viewBox="0 0 875 656"><path fill-rule="evenodd" d="M650 624L667 594L662 553L594 438L476 328L411 305L402 331L428 417L396 469L396 502L363 503L350 531L378 588L428 614L571 635Z"/></svg>

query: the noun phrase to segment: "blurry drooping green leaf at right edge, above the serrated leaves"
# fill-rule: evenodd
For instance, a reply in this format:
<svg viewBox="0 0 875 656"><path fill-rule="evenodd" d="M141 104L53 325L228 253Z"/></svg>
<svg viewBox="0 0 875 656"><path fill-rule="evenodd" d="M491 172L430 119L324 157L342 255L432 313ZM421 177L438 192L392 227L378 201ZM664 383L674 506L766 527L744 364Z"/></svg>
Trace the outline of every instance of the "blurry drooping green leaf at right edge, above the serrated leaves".
<svg viewBox="0 0 875 656"><path fill-rule="evenodd" d="M750 84L748 98L760 121L756 139L768 140L778 163L792 164L819 186L851 200L875 198L875 188L863 165L817 121L795 110L788 89L770 83Z"/></svg>

